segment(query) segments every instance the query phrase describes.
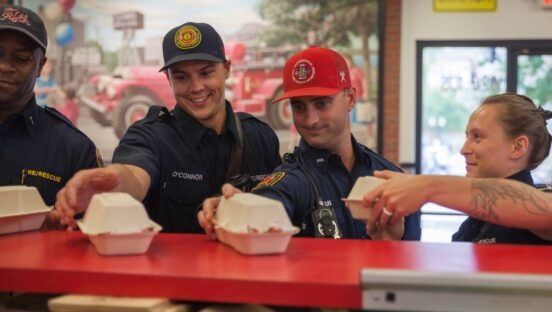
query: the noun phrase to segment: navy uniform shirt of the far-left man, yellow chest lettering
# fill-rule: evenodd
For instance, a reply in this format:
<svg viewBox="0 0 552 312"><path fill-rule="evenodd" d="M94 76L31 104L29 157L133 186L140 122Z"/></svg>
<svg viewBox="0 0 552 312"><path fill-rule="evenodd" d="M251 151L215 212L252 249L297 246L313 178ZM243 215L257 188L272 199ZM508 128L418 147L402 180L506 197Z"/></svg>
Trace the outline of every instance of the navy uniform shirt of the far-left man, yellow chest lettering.
<svg viewBox="0 0 552 312"><path fill-rule="evenodd" d="M94 143L34 96L0 124L0 185L35 186L48 206L77 171L99 165Z"/></svg>

